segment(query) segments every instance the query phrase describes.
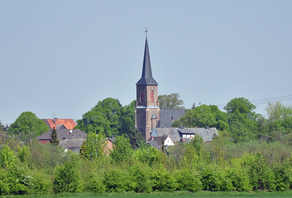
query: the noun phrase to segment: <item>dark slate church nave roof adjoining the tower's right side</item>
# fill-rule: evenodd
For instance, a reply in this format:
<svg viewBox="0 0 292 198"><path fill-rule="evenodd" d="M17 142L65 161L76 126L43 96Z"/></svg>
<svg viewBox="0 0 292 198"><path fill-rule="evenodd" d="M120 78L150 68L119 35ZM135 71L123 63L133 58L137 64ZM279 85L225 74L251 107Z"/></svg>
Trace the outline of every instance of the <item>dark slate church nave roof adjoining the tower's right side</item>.
<svg viewBox="0 0 292 198"><path fill-rule="evenodd" d="M181 116L185 115L185 109L161 109L160 120L157 121L155 128L170 128L172 119L178 120Z"/></svg>

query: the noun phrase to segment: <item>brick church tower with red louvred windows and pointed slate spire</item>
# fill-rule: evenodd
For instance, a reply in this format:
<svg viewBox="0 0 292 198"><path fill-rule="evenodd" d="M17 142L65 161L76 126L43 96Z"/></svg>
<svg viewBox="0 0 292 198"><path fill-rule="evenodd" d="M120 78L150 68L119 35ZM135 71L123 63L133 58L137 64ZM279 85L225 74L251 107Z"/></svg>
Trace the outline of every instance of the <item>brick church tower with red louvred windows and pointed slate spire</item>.
<svg viewBox="0 0 292 198"><path fill-rule="evenodd" d="M142 77L136 83L135 127L148 140L150 132L159 120L158 83L152 77L148 41L146 36Z"/></svg>

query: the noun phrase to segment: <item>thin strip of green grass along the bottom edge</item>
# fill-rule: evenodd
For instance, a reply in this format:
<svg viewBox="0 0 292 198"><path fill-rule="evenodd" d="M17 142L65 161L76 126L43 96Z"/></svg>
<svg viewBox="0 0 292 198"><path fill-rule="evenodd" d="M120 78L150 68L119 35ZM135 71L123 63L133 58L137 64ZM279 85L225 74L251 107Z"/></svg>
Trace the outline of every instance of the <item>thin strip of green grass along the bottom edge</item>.
<svg viewBox="0 0 292 198"><path fill-rule="evenodd" d="M91 197L140 197L140 198L209 198L209 197L216 197L216 198L231 198L231 197L263 197L263 198L290 198L292 197L292 191L285 191L285 192L264 192L264 191L256 191L256 192L210 192L210 191L199 191L199 192L189 192L189 191L177 191L177 192L151 192L151 193L135 193L135 192L119 192L119 193L93 193L93 192L81 192L81 193L69 193L64 192L60 194L26 194L26 195L3 195L0 196L1 198L51 198L51 197L78 197L78 198L91 198Z"/></svg>

